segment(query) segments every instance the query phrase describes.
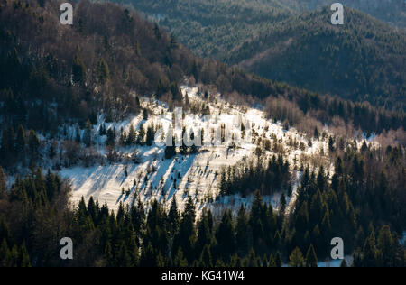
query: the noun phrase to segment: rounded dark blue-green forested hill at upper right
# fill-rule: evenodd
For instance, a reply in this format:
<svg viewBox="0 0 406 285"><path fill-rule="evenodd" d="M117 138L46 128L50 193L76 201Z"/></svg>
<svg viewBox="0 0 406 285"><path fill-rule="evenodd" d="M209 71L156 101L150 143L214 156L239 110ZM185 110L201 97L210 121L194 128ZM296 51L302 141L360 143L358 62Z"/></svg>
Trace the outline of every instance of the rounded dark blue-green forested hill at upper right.
<svg viewBox="0 0 406 285"><path fill-rule="evenodd" d="M345 13L342 26L329 23L327 8L293 17L226 61L273 80L404 111L406 35L356 10Z"/></svg>

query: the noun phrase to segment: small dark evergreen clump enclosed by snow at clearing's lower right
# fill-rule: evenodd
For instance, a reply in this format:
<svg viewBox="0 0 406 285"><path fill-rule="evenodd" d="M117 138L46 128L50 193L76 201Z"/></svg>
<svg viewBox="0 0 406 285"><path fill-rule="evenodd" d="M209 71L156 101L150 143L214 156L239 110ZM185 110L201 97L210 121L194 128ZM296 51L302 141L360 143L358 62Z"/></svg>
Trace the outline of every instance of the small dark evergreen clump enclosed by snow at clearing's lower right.
<svg viewBox="0 0 406 285"><path fill-rule="evenodd" d="M220 173L220 195L240 194L243 197L260 190L261 195L272 195L289 189L291 196L291 172L288 161L282 156L272 156L269 161L242 161L224 168ZM286 203L286 200L285 200ZM285 205L286 206L286 205Z"/></svg>

